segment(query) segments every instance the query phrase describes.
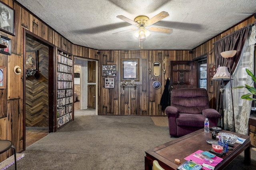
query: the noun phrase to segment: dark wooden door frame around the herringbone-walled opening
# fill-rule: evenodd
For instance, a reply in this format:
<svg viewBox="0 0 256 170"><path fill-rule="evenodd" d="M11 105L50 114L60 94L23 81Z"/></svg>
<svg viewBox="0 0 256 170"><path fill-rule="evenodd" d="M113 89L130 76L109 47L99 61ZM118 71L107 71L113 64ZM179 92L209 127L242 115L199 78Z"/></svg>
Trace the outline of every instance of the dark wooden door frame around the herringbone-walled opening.
<svg viewBox="0 0 256 170"><path fill-rule="evenodd" d="M56 117L56 113L54 114L54 108L56 108L56 90L52 87L56 87L56 46L43 38L37 36L36 34L26 30L23 28L23 70L26 70L26 37L32 38L49 48L49 72L48 74L48 84L52 86L48 87L48 130L49 133L54 131L54 115ZM55 74L54 74L55 73ZM24 90L25 89L25 90ZM23 71L23 150L26 150L26 72Z"/></svg>

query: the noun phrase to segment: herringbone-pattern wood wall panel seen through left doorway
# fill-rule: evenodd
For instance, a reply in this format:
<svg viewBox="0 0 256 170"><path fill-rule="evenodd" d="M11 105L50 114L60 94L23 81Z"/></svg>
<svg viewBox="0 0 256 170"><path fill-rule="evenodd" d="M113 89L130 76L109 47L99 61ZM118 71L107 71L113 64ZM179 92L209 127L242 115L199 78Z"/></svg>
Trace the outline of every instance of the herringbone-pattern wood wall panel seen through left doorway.
<svg viewBox="0 0 256 170"><path fill-rule="evenodd" d="M26 38L26 51L38 51L38 79L26 79L26 126L48 127L48 47Z"/></svg>

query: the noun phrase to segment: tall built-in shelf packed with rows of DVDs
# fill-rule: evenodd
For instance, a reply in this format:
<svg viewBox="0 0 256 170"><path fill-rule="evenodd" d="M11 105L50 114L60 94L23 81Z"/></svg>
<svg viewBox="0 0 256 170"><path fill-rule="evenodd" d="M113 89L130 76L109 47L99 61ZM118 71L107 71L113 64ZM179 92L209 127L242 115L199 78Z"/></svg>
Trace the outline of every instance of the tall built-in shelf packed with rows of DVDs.
<svg viewBox="0 0 256 170"><path fill-rule="evenodd" d="M72 56L57 50L57 128L73 120Z"/></svg>

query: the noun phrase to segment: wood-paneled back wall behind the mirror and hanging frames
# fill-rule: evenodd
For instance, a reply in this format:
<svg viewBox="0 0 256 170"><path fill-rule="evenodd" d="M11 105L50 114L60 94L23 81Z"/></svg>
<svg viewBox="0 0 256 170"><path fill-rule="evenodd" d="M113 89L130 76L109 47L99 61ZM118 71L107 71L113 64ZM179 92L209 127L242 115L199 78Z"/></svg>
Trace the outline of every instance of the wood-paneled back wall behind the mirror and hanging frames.
<svg viewBox="0 0 256 170"><path fill-rule="evenodd" d="M110 50L100 53L102 60L99 60L99 114L116 115L165 115L161 110L160 100L164 91L166 79L170 77L170 61L191 60L192 55L188 50ZM121 58L138 58L140 81L138 86L126 86L123 88L120 81L120 60ZM149 74L153 62L158 61L161 67L166 70L160 77L155 78ZM164 64L165 61L165 64ZM102 64L116 64L117 76L114 77L115 88L104 88L104 78L101 75ZM113 77L112 77L113 78ZM161 87L154 89L152 84L159 81Z"/></svg>

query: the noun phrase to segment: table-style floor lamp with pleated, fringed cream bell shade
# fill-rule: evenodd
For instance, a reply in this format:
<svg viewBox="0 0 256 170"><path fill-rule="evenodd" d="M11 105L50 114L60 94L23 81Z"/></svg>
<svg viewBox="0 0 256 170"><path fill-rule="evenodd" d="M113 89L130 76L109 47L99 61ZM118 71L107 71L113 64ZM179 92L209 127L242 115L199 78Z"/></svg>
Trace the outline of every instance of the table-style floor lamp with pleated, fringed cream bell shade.
<svg viewBox="0 0 256 170"><path fill-rule="evenodd" d="M214 74L212 80L220 80L220 107L221 107L221 116L222 116L222 129L224 128L224 104L223 104L223 94L225 92L224 86L224 80L230 80L230 74L228 72L228 67L219 66L216 70L216 74ZM232 78L231 78L232 79Z"/></svg>

